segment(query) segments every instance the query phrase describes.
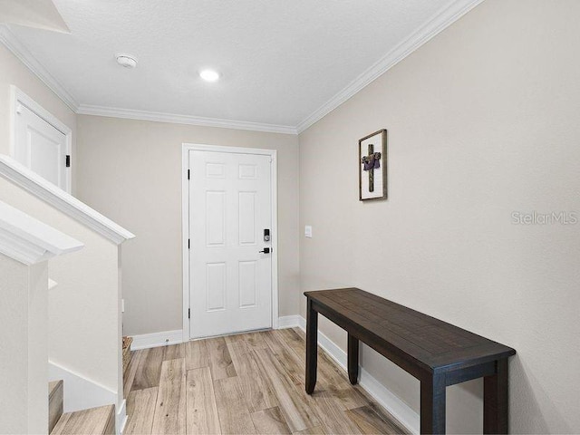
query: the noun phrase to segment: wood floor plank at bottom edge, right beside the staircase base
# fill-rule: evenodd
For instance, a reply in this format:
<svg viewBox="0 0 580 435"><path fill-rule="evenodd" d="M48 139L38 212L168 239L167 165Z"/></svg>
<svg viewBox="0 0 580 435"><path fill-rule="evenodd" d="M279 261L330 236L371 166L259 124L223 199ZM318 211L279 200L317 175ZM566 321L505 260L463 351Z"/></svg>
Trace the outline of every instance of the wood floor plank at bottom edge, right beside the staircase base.
<svg viewBox="0 0 580 435"><path fill-rule="evenodd" d="M127 425L125 435L150 435L159 387L135 390L127 397Z"/></svg>

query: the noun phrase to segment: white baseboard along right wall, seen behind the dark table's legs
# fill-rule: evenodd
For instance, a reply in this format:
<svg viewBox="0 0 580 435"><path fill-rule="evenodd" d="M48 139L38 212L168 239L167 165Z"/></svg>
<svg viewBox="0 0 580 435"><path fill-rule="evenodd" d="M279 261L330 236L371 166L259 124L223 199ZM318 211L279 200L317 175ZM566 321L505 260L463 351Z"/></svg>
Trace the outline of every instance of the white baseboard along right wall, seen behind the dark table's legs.
<svg viewBox="0 0 580 435"><path fill-rule="evenodd" d="M305 331L306 321L304 317L296 317L298 317L297 326ZM322 347L324 352L328 353L334 362L341 366L344 371L347 370L348 358L346 352L320 331L318 331L318 345ZM359 367L359 373L359 385L361 385L361 387L385 410L389 411L395 419L399 420L407 430L410 430L411 433L419 433L419 414L413 411L404 401L401 401L401 399L393 394L388 388L382 385L381 382L374 379L372 375L362 367Z"/></svg>

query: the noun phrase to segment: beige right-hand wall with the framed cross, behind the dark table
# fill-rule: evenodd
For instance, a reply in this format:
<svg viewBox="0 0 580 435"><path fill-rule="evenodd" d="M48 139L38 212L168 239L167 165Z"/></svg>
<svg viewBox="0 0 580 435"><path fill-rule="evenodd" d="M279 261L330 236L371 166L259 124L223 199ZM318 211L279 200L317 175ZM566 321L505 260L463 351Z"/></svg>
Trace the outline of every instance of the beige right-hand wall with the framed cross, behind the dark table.
<svg viewBox="0 0 580 435"><path fill-rule="evenodd" d="M580 218L579 16L488 0L300 135L302 291L358 286L513 346L516 433L580 429L580 224L511 216ZM382 128L389 199L362 203L357 140ZM369 349L362 364L419 409L410 375ZM450 431L480 433L481 393L448 389Z"/></svg>

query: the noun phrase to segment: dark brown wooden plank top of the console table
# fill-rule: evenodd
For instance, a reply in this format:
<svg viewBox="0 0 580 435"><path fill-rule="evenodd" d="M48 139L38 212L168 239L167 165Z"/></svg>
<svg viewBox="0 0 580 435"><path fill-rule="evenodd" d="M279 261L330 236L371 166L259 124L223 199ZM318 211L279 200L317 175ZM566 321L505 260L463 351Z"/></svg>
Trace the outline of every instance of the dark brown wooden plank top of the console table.
<svg viewBox="0 0 580 435"><path fill-rule="evenodd" d="M348 326L349 333L374 336L377 342L387 343L389 353L429 371L455 370L516 353L504 344L358 288L304 295L316 311L331 314L333 322Z"/></svg>

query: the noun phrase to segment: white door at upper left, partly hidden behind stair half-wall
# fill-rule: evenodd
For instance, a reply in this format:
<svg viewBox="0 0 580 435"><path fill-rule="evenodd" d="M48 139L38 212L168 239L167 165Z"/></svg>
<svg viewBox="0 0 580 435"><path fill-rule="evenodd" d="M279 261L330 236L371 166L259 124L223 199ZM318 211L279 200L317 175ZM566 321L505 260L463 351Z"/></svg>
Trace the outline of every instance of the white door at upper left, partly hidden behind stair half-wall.
<svg viewBox="0 0 580 435"><path fill-rule="evenodd" d="M66 135L24 104L16 104L14 160L67 190Z"/></svg>

